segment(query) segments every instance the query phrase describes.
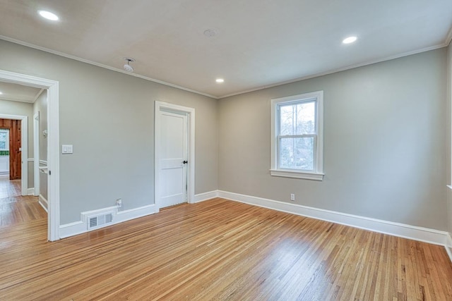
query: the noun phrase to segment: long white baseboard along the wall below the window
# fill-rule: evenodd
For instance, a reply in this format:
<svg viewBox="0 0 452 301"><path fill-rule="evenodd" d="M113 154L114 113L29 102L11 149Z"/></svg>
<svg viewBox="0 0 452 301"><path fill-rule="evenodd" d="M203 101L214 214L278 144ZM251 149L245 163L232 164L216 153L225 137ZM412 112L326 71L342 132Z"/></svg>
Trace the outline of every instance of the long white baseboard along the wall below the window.
<svg viewBox="0 0 452 301"><path fill-rule="evenodd" d="M232 199L237 202L275 209L291 214L307 216L323 221L331 221L346 226L361 228L364 230L385 233L409 238L422 242L432 243L434 245L446 245L446 232L418 226L410 226L404 223L394 223L392 221L383 221L381 219L371 219L369 217L345 214L338 211L319 209L314 207L302 206L299 204L290 204L287 202L275 201L273 199L263 199L261 197L251 197L249 195L240 195L234 192L218 191L218 197Z"/></svg>

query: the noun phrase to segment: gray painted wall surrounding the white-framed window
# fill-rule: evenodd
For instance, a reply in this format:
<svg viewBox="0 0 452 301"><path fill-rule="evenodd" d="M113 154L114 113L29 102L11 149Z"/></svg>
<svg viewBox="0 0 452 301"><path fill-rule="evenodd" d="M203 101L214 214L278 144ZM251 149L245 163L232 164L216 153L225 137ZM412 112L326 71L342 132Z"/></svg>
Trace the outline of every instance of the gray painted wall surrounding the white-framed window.
<svg viewBox="0 0 452 301"><path fill-rule="evenodd" d="M446 230L445 79L443 48L220 99L219 189ZM270 176L270 99L318 90L324 180Z"/></svg>

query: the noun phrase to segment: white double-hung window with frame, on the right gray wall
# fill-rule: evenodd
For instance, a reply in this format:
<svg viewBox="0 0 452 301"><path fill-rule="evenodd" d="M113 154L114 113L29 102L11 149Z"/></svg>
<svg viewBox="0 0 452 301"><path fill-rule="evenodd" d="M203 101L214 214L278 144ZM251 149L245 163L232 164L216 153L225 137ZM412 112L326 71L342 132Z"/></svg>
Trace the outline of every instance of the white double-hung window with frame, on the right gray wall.
<svg viewBox="0 0 452 301"><path fill-rule="evenodd" d="M323 180L323 91L271 100L271 176Z"/></svg>

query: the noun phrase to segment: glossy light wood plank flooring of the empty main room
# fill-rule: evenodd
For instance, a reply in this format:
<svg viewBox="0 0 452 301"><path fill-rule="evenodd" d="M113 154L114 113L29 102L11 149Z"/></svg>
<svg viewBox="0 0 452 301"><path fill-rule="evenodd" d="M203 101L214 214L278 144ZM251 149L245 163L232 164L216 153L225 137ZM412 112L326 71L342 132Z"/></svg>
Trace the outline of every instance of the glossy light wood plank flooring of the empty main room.
<svg viewBox="0 0 452 301"><path fill-rule="evenodd" d="M444 247L225 199L46 242L0 227L0 300L452 300Z"/></svg>

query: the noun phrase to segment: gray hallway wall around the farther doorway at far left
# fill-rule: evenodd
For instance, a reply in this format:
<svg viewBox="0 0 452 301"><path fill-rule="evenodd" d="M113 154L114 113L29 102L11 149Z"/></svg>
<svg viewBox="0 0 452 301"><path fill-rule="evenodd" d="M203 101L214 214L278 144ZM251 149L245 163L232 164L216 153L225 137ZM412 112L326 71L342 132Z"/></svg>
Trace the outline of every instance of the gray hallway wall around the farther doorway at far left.
<svg viewBox="0 0 452 301"><path fill-rule="evenodd" d="M1 51L0 51L1 52ZM0 65L1 66L1 65ZM12 102L0 99L0 113L8 115L28 116L28 158L33 158L33 104L28 102ZM28 188L35 187L33 184L33 162L28 162Z"/></svg>

